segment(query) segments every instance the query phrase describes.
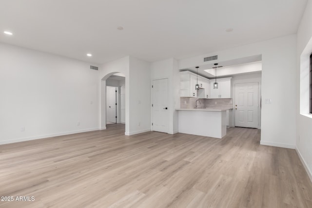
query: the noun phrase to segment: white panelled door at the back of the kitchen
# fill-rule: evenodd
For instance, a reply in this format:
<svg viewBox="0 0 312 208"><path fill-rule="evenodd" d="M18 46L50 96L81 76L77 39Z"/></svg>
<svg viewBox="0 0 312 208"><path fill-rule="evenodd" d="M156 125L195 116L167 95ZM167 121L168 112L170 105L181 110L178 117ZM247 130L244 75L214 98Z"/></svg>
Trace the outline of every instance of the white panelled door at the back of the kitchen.
<svg viewBox="0 0 312 208"><path fill-rule="evenodd" d="M235 84L235 126L258 128L258 82Z"/></svg>

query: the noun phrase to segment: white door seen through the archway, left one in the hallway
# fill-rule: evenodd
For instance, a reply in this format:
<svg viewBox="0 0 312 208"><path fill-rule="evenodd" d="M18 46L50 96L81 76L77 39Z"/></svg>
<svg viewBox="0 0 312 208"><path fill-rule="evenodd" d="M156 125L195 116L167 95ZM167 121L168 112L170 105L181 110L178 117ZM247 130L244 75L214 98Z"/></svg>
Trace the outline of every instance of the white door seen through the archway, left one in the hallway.
<svg viewBox="0 0 312 208"><path fill-rule="evenodd" d="M116 87L106 86L106 122L116 123Z"/></svg>

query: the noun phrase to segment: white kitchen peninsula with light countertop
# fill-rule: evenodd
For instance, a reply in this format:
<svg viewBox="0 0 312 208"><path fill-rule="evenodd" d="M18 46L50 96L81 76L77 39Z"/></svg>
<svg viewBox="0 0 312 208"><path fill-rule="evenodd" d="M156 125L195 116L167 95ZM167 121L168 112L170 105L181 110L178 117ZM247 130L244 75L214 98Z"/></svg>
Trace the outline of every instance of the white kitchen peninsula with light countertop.
<svg viewBox="0 0 312 208"><path fill-rule="evenodd" d="M176 109L180 133L222 138L226 135L226 111L222 108Z"/></svg>

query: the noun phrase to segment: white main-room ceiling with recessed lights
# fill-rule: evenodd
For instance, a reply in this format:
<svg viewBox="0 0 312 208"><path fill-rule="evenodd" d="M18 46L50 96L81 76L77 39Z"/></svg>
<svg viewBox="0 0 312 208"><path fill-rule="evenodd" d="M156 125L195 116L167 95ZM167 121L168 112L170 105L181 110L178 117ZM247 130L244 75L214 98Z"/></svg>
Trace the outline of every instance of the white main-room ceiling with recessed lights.
<svg viewBox="0 0 312 208"><path fill-rule="evenodd" d="M127 55L147 61L180 59L294 34L306 3L1 0L0 42L93 63ZM233 32L226 32L228 28ZM3 34L5 30L13 36Z"/></svg>

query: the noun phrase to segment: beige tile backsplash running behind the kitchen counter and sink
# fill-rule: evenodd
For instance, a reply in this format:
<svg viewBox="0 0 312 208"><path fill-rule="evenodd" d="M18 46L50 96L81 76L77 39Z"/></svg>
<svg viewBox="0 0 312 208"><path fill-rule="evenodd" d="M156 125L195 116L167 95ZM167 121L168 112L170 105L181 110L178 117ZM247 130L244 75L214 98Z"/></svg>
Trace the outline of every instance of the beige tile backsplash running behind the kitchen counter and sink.
<svg viewBox="0 0 312 208"><path fill-rule="evenodd" d="M196 97L180 97L180 108L195 108ZM206 108L233 108L232 98L204 99L201 98L198 107Z"/></svg>

